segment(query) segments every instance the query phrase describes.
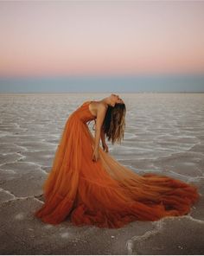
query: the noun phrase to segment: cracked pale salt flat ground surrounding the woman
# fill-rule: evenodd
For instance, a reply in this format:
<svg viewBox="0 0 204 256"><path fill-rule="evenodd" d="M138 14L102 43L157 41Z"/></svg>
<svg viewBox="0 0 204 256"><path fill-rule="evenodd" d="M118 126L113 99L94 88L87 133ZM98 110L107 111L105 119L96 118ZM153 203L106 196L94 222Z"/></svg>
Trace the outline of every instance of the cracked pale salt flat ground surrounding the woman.
<svg viewBox="0 0 204 256"><path fill-rule="evenodd" d="M139 174L195 184L201 200L189 214L116 229L52 226L33 216L69 114L108 95L0 94L0 254L204 253L204 93L120 93L124 141L108 143L110 154Z"/></svg>

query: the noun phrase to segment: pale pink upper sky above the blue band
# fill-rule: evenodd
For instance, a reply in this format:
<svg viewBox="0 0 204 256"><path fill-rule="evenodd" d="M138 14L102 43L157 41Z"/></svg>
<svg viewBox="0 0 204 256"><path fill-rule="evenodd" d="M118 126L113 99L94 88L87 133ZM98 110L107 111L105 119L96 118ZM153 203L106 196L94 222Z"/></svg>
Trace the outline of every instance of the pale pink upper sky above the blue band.
<svg viewBox="0 0 204 256"><path fill-rule="evenodd" d="M0 76L204 74L204 2L0 2Z"/></svg>

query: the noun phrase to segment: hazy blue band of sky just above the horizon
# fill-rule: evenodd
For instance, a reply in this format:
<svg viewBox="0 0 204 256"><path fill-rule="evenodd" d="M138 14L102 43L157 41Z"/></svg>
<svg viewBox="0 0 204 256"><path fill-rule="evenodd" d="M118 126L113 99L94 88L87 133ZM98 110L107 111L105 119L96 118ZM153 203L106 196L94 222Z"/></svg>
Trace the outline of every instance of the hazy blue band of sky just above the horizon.
<svg viewBox="0 0 204 256"><path fill-rule="evenodd" d="M204 93L204 75L0 78L0 93Z"/></svg>

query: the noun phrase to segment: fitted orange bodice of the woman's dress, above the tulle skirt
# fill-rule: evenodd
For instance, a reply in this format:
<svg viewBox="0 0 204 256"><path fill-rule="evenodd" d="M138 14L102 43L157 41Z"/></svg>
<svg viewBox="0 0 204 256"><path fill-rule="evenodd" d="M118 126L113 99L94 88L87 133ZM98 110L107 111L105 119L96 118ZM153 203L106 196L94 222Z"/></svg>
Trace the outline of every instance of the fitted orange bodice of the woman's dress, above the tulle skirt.
<svg viewBox="0 0 204 256"><path fill-rule="evenodd" d="M76 118L80 118L83 123L87 123L88 121L92 121L96 117L92 115L92 112L89 109L89 105L92 100L85 101L80 107L78 107L73 113L72 116Z"/></svg>

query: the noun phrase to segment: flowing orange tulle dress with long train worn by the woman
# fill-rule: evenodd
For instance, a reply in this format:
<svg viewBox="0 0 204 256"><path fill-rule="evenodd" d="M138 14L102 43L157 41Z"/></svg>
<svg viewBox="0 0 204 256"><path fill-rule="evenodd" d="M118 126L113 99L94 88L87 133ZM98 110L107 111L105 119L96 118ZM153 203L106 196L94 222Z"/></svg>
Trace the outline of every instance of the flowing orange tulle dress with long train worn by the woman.
<svg viewBox="0 0 204 256"><path fill-rule="evenodd" d="M95 119L84 102L67 118L52 170L43 184L44 204L35 217L49 224L66 219L75 226L123 227L188 214L200 194L190 183L158 174L137 175L99 146L87 122Z"/></svg>

